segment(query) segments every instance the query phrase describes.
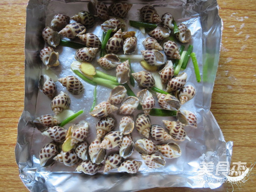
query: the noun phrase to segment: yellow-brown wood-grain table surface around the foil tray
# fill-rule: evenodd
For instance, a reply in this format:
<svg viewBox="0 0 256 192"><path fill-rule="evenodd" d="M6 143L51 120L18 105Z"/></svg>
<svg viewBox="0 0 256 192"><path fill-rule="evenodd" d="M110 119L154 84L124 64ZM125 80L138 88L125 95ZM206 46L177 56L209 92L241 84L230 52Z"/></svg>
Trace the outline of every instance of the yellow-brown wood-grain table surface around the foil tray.
<svg viewBox="0 0 256 192"><path fill-rule="evenodd" d="M14 148L24 99L24 37L27 0L0 2L0 191L28 191L20 180ZM221 54L211 111L226 141L233 141L232 162L256 162L256 8L255 0L219 0L223 19ZM253 169L256 173L256 167ZM242 184L255 191L256 176ZM214 191L229 189L225 183ZM237 186L234 186L238 190ZM173 189L173 188L172 188ZM151 192L172 189L151 189ZM207 189L175 188L176 191ZM146 190L145 190L146 191ZM148 190L147 190L148 191Z"/></svg>

